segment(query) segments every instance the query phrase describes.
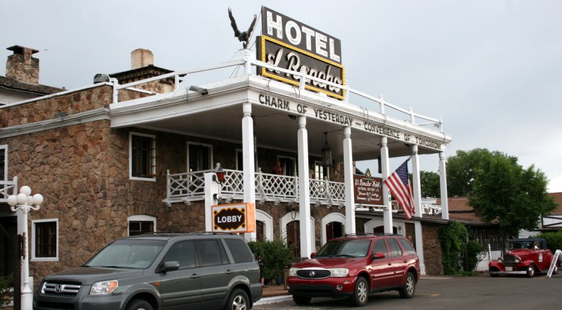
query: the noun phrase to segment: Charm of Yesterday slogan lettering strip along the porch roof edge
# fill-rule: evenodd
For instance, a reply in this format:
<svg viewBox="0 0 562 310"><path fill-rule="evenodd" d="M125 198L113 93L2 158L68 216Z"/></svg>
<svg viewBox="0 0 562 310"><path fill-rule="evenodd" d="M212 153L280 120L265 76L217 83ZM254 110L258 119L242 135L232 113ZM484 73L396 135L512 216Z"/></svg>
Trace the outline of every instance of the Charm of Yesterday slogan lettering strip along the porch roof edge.
<svg viewBox="0 0 562 310"><path fill-rule="evenodd" d="M331 123L338 123L342 126L351 126L355 129L374 132L379 136L388 136L391 139L417 144L434 150L441 150L443 145L441 141L428 139L424 136L417 136L416 134L412 134L410 132L404 132L399 128L391 128L389 126L373 123L364 119L353 119L353 117L344 115L337 110L315 108L305 104L297 104L296 102L291 102L288 99L266 94L257 95L257 101L259 104L269 106L270 108L277 108L278 110L283 110L297 115L305 115L306 117L320 119L322 121L330 121Z"/></svg>

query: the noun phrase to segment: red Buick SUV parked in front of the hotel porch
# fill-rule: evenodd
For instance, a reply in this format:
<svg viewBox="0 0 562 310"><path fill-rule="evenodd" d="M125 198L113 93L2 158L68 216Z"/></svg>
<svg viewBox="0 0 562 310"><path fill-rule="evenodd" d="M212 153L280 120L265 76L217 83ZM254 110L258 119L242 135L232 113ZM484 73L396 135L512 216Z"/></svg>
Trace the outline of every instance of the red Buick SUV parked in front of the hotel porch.
<svg viewBox="0 0 562 310"><path fill-rule="evenodd" d="M347 235L294 264L288 287L297 305L307 305L312 297L349 296L353 305L363 306L377 291L396 289L402 298L412 298L419 272L419 258L408 239Z"/></svg>

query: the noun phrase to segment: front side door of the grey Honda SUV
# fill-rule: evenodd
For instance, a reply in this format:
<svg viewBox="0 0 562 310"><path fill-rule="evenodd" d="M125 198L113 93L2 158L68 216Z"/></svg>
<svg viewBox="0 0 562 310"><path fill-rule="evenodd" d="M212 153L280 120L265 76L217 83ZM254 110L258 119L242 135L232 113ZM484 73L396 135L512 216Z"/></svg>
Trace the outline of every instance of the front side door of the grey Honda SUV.
<svg viewBox="0 0 562 310"><path fill-rule="evenodd" d="M165 261L177 261L178 270L163 273L162 305L165 309L200 309L202 272L196 267L194 241L180 241L169 248Z"/></svg>

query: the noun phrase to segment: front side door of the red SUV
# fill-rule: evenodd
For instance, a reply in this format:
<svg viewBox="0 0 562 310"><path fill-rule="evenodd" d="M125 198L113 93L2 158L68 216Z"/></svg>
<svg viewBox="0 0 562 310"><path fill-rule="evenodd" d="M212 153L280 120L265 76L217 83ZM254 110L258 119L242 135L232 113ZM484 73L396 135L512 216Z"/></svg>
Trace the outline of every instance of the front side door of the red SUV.
<svg viewBox="0 0 562 310"><path fill-rule="evenodd" d="M371 274L371 287L373 289L382 289L391 287L394 283L393 259L388 254L388 248L384 239L378 239L373 246L373 254L384 253L384 258L373 259L369 266L369 274Z"/></svg>

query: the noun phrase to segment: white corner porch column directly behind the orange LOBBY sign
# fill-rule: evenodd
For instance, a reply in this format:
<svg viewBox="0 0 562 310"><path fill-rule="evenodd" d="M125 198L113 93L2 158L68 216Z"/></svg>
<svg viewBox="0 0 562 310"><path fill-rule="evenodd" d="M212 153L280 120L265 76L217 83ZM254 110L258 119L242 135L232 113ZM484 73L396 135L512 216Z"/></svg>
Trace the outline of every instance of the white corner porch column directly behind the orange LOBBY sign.
<svg viewBox="0 0 562 310"><path fill-rule="evenodd" d="M244 165L244 202L256 203L256 175L254 153L254 123L252 119L252 104L242 106L242 163ZM255 218L255 211L254 211ZM245 233L248 241L256 239L256 233Z"/></svg>

